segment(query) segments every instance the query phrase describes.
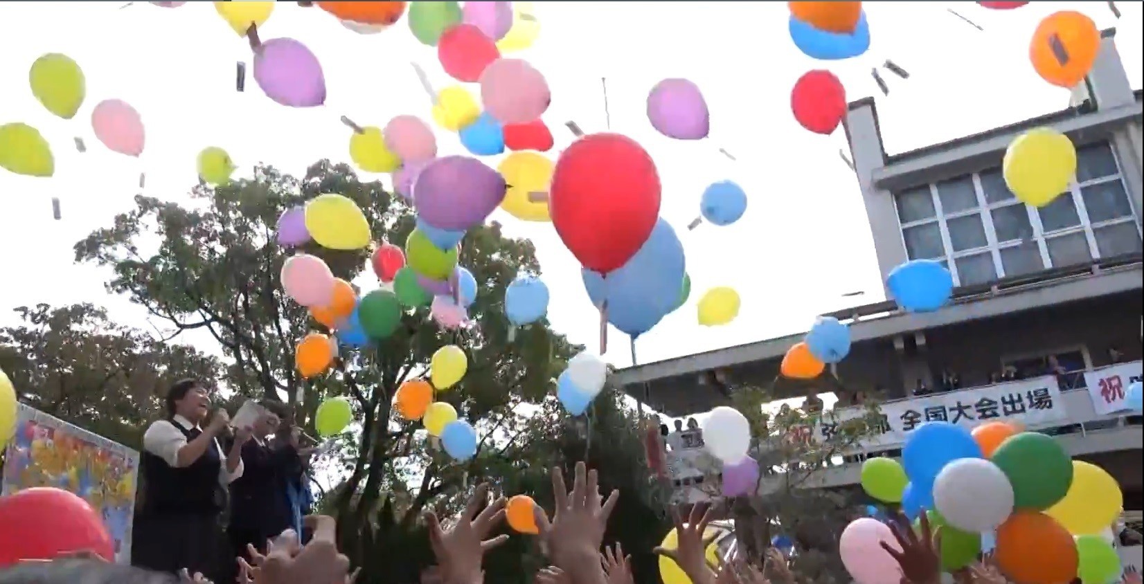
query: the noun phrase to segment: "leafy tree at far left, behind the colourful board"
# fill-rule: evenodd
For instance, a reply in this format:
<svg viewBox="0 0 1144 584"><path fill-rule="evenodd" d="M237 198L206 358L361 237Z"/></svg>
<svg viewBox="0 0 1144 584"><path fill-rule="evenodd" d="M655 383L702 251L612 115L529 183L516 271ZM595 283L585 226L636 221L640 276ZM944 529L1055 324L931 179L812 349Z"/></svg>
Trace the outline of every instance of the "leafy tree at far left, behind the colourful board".
<svg viewBox="0 0 1144 584"><path fill-rule="evenodd" d="M132 448L162 415L172 384L214 384L222 370L216 358L117 325L92 304L15 311L22 323L0 329L0 369L21 401Z"/></svg>

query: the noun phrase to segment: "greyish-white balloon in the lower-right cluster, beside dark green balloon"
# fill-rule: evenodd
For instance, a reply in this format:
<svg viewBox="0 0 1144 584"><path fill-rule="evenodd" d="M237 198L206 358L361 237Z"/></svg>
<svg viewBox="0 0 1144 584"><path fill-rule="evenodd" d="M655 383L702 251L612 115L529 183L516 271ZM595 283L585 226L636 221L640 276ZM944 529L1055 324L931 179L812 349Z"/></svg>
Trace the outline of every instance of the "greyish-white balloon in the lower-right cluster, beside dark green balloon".
<svg viewBox="0 0 1144 584"><path fill-rule="evenodd" d="M934 481L934 506L962 531L992 531L1012 513L1012 485L984 458L959 458Z"/></svg>

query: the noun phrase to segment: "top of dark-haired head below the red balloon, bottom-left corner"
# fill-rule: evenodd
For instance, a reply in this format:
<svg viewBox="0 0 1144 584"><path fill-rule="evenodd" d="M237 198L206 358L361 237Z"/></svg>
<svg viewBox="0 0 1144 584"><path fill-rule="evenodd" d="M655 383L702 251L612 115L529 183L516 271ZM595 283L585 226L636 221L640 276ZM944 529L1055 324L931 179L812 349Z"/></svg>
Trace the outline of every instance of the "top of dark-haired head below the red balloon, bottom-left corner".
<svg viewBox="0 0 1144 584"><path fill-rule="evenodd" d="M23 562L0 568L0 584L178 584L170 574L98 560Z"/></svg>

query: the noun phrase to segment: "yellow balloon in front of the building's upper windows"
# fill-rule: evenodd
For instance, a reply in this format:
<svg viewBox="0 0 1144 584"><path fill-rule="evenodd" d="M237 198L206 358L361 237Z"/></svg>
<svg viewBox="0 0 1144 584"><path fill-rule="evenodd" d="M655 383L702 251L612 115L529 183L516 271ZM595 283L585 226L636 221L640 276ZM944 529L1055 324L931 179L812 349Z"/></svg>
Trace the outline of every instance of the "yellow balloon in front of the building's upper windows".
<svg viewBox="0 0 1144 584"><path fill-rule="evenodd" d="M1052 128L1035 128L1009 144L1001 170L1017 199L1044 207L1068 190L1077 175L1077 147Z"/></svg>

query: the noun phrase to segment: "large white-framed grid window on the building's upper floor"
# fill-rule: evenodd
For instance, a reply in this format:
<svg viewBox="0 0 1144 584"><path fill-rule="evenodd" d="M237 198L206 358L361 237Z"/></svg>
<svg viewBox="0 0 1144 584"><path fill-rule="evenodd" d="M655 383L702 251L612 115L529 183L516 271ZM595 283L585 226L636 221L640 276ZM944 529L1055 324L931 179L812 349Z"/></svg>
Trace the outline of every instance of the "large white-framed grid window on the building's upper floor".
<svg viewBox="0 0 1144 584"><path fill-rule="evenodd" d="M1023 205L1000 168L895 193L909 259L937 259L972 286L1139 253L1120 166L1107 142L1077 150L1077 182L1051 203Z"/></svg>

